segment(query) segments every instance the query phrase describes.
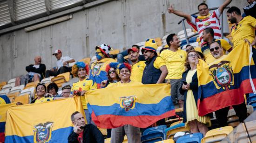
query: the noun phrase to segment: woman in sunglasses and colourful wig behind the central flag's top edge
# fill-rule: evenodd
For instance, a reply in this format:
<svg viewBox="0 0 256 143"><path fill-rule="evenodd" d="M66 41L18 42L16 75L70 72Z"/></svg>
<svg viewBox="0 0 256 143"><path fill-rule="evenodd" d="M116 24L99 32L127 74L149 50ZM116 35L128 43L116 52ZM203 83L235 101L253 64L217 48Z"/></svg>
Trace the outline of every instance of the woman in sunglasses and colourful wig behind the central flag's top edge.
<svg viewBox="0 0 256 143"><path fill-rule="evenodd" d="M101 82L101 88L105 88L108 86L108 84L112 84L120 81L120 78L117 73L118 65L119 63L112 62L106 66L108 80L103 80Z"/></svg>

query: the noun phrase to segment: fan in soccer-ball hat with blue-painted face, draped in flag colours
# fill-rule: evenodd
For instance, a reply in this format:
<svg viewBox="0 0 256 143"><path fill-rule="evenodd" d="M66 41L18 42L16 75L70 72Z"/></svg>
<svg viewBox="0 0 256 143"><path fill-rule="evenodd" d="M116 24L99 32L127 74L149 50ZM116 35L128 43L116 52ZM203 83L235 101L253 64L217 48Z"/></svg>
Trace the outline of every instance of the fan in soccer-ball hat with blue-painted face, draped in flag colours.
<svg viewBox="0 0 256 143"><path fill-rule="evenodd" d="M95 61L91 66L90 79L96 82L97 87L101 88L101 82L103 80L108 80L106 66L109 63L116 62L115 59L109 58L109 51L111 47L107 44L101 44L101 46L95 47L95 56L97 61Z"/></svg>

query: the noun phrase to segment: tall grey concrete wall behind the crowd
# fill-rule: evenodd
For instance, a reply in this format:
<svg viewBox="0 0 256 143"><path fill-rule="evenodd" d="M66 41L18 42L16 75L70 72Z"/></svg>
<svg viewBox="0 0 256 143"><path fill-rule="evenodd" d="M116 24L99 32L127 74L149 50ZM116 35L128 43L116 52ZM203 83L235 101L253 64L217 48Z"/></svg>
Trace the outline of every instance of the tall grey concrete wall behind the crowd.
<svg viewBox="0 0 256 143"><path fill-rule="evenodd" d="M55 66L52 52L75 60L94 55L95 45L106 43L115 49L128 48L148 38L179 32L180 17L167 12L168 5L185 13L197 11L202 0L113 0L73 14L73 18L35 31L24 29L0 35L0 81L26 74L25 66L42 56L47 69ZM246 0L229 6L243 8ZM190 26L187 25L187 28Z"/></svg>

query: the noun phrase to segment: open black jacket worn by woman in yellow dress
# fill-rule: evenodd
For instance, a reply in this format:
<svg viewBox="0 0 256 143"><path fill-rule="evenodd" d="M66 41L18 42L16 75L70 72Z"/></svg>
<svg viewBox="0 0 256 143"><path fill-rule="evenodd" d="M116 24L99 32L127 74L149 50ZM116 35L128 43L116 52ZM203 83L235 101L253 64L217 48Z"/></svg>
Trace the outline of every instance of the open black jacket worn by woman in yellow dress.
<svg viewBox="0 0 256 143"><path fill-rule="evenodd" d="M186 81L186 78L187 78L187 74L188 74L189 70L186 70L182 73L182 81ZM181 82L181 84L183 84ZM194 95L194 98L195 98L195 104L197 106L197 99L198 99L198 79L197 79L197 74L196 74L196 71L195 71L195 74L193 75L192 77L192 82L191 83L188 83L190 84L190 89L192 90L193 92L193 95ZM186 102L187 102L187 93L188 93L188 90L183 90L182 89L182 86L180 88L180 93L182 95L184 95L184 106L183 106L183 110L184 110L184 115L183 115L183 123L186 123L187 122L187 112L186 112Z"/></svg>

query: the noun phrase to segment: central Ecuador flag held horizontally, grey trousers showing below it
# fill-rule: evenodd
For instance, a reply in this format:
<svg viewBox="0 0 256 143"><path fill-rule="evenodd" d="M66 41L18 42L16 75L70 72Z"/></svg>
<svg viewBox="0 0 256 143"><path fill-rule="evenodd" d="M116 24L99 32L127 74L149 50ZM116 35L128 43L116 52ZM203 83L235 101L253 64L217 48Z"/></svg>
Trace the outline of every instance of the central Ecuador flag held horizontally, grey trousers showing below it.
<svg viewBox="0 0 256 143"><path fill-rule="evenodd" d="M86 92L88 110L100 128L125 124L146 128L175 115L170 84L145 84L98 89Z"/></svg>

